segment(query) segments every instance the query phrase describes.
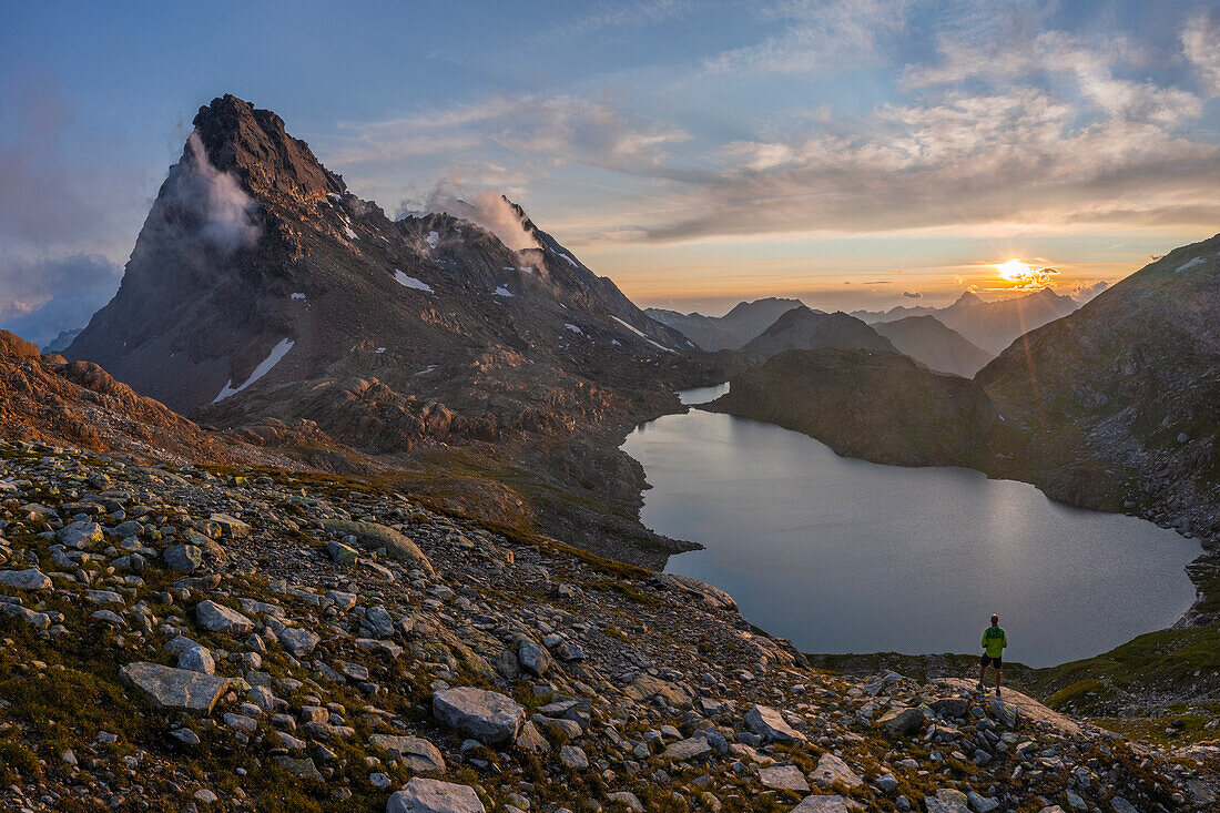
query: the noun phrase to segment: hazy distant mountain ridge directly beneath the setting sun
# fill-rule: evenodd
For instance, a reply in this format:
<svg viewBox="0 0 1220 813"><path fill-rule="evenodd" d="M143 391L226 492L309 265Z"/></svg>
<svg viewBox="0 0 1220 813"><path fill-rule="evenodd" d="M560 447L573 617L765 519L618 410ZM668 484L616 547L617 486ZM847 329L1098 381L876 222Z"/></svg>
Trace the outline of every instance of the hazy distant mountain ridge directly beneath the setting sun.
<svg viewBox="0 0 1220 813"><path fill-rule="evenodd" d="M1060 297L1043 288L1024 297L983 302L969 291L948 308L892 308L888 311L854 311L852 315L871 323L893 322L906 316L936 316L946 327L989 354L997 354L1021 333L1042 327L1078 308L1071 297Z"/></svg>

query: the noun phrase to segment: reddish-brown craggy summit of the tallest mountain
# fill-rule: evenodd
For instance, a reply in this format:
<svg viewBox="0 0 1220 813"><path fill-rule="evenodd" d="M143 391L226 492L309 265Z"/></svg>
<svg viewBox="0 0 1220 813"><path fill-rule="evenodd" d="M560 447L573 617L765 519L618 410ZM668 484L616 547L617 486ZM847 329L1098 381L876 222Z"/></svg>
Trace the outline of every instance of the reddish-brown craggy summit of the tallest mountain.
<svg viewBox="0 0 1220 813"><path fill-rule="evenodd" d="M344 194L343 178L314 156L309 144L293 138L284 120L270 110L224 94L199 109L195 136L220 172L232 172L253 193L288 193L312 200ZM187 153L192 150L187 145Z"/></svg>

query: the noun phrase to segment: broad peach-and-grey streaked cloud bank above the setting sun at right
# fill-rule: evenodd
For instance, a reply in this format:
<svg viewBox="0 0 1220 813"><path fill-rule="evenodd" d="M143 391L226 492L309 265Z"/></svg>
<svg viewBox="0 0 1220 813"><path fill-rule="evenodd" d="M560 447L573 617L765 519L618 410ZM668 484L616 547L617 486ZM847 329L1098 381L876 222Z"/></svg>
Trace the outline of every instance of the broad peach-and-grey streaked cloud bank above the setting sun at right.
<svg viewBox="0 0 1220 813"><path fill-rule="evenodd" d="M854 131L739 142L719 172L692 173L645 239L878 232L965 223L1214 225L1220 148L1179 134L1181 120L1082 110L1048 92L948 90L876 107ZM1085 114L1088 114L1087 116ZM1082 122L1083 118L1083 122ZM626 232L630 233L630 232Z"/></svg>

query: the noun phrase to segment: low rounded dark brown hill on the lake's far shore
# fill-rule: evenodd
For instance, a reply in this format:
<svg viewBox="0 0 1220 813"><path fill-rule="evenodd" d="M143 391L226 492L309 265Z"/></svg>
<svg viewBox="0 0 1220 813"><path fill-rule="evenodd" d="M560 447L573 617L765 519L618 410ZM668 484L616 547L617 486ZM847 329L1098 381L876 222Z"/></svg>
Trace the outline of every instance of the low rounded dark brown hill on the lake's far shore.
<svg viewBox="0 0 1220 813"><path fill-rule="evenodd" d="M781 353L733 376L728 394L704 409L777 424L874 463L977 468L1008 442L977 385L893 352Z"/></svg>

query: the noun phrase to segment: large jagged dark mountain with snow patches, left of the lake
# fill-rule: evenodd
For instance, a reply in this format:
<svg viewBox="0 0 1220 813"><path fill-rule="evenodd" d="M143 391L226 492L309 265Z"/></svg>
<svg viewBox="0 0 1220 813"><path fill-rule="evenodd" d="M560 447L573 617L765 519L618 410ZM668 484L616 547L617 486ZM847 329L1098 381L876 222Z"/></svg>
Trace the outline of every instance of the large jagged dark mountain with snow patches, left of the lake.
<svg viewBox="0 0 1220 813"><path fill-rule="evenodd" d="M194 125L70 358L214 422L307 419L373 450L566 433L669 398L659 363L692 345L518 206L483 204L497 233L393 221L270 111L223 96Z"/></svg>

